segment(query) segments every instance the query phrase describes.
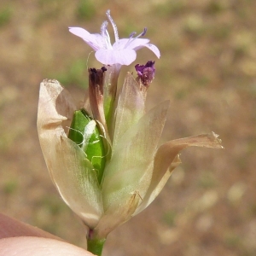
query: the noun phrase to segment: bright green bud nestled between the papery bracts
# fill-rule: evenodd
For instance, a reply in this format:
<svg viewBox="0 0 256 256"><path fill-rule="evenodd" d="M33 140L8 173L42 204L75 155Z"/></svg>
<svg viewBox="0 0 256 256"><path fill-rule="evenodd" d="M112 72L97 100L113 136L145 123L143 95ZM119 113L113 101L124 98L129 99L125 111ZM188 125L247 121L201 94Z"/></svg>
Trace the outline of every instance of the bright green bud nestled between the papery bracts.
<svg viewBox="0 0 256 256"><path fill-rule="evenodd" d="M68 138L82 148L87 159L96 169L98 181L101 183L106 161L103 137L96 121L84 109L73 113Z"/></svg>

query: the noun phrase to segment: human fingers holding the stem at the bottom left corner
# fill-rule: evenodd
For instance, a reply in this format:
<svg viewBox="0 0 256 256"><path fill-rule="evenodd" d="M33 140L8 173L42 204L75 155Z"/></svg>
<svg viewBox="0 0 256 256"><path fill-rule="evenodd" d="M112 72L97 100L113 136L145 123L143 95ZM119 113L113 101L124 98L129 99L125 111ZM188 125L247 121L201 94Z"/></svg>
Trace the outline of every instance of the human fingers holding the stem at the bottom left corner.
<svg viewBox="0 0 256 256"><path fill-rule="evenodd" d="M0 213L0 256L92 256L60 237Z"/></svg>

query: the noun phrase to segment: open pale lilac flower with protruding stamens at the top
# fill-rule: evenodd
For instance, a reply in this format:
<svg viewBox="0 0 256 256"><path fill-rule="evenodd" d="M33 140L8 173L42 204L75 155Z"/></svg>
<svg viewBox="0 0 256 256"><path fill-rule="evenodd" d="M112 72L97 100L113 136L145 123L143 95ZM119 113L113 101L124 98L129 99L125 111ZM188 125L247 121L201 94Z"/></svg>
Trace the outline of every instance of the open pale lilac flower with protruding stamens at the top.
<svg viewBox="0 0 256 256"><path fill-rule="evenodd" d="M91 34L81 27L69 27L69 31L74 35L82 38L90 47L96 50L96 59L104 65L130 65L136 60L137 49L147 47L151 49L154 54L160 58L160 50L154 45L149 44L149 39L140 38L145 35L147 29L140 33L136 38L133 36L136 32L132 32L129 38L119 39L118 29L110 16L110 10L107 11L108 20L113 26L115 42L113 45L110 42L107 26L108 21L104 21L101 27L101 33Z"/></svg>

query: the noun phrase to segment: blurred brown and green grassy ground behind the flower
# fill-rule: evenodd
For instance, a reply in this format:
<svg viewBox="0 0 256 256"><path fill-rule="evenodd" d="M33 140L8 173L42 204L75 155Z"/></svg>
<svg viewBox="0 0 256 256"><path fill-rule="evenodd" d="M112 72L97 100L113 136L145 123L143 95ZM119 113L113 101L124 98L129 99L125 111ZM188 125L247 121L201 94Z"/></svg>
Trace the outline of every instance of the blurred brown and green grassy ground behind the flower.
<svg viewBox="0 0 256 256"><path fill-rule="evenodd" d="M107 9L120 38L147 26L160 49L148 109L171 100L162 142L215 131L225 149L184 150L160 196L108 236L104 255L256 255L254 0L1 0L1 212L86 246L44 163L38 90L59 79L83 100L86 69L101 64L67 27L100 32ZM137 55L134 65L156 59L148 49Z"/></svg>

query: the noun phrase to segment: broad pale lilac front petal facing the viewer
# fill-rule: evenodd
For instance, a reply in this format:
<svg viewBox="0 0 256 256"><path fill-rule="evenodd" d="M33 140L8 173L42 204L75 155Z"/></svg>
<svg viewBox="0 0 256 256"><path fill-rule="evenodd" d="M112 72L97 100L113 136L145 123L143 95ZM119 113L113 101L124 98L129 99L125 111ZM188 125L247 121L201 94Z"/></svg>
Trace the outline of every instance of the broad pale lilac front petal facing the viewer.
<svg viewBox="0 0 256 256"><path fill-rule="evenodd" d="M136 59L136 51L133 49L99 49L95 56L97 61L105 65L130 65Z"/></svg>

